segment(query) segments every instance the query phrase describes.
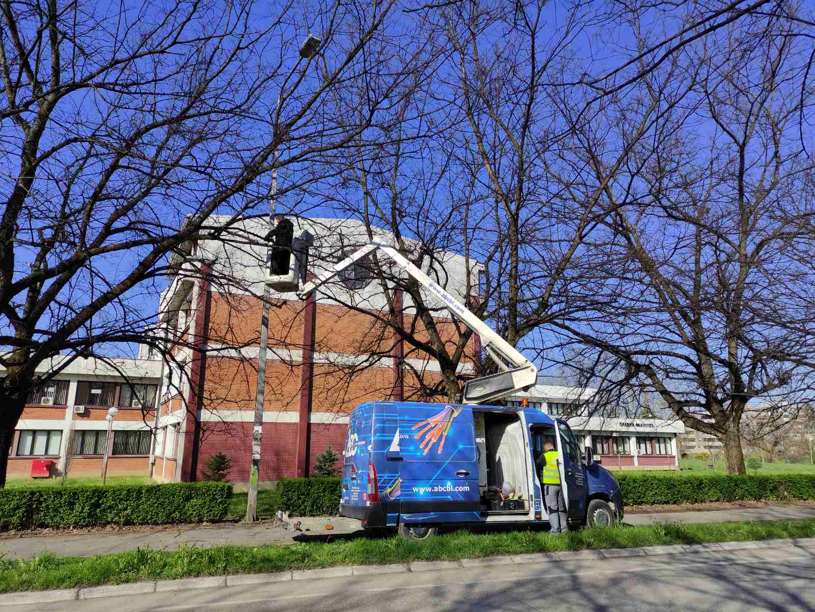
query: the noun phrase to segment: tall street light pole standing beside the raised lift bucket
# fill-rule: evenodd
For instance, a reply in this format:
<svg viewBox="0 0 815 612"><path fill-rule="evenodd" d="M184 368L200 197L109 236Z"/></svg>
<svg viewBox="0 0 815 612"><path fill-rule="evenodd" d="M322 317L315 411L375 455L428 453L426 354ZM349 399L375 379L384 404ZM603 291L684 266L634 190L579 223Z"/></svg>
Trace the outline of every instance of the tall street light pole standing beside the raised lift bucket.
<svg viewBox="0 0 815 612"><path fill-rule="evenodd" d="M314 34L309 34L300 46L300 57L311 60L319 50L322 39ZM275 107L275 120L280 115L281 95L277 96ZM274 122L273 122L274 124ZM274 133L272 137L274 138ZM277 199L277 160L278 149L272 158L271 169L271 189L269 192L269 229L275 220L275 200ZM272 250L271 244L266 245L266 268L264 276L268 274L271 267ZM263 396L266 392L266 350L269 338L269 297L271 288L268 284L263 284L263 306L260 318L260 349L258 350L258 386L255 391L254 423L252 427L252 462L249 465L249 495L246 500L246 516L244 522L256 522L258 520L258 484L260 481L260 455L263 441Z"/></svg>

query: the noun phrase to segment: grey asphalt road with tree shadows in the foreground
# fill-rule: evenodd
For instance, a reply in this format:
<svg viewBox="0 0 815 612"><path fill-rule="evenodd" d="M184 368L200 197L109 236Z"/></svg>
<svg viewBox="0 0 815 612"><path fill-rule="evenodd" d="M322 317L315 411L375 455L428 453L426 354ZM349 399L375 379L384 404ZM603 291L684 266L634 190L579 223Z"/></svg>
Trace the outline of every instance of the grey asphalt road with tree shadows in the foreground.
<svg viewBox="0 0 815 612"><path fill-rule="evenodd" d="M815 548L561 561L263 583L15 612L755 612L815 610Z"/></svg>

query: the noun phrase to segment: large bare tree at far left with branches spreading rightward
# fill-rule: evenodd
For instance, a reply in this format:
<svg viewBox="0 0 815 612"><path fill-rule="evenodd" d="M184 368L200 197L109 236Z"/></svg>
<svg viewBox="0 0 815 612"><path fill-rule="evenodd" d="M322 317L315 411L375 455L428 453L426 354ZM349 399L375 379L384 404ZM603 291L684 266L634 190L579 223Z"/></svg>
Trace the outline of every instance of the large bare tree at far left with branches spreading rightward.
<svg viewBox="0 0 815 612"><path fill-rule="evenodd" d="M59 374L38 364L161 350L156 294L190 244L262 214L273 167L302 190L368 127L334 121L328 94L363 75L393 4L2 3L0 486L29 390ZM308 30L317 59L297 53Z"/></svg>

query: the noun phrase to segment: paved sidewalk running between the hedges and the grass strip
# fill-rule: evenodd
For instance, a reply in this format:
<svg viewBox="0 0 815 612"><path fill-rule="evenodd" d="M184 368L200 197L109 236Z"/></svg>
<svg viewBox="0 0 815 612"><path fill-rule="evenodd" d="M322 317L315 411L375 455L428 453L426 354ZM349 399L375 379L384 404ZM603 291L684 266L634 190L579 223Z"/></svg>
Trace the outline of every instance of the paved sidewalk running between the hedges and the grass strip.
<svg viewBox="0 0 815 612"><path fill-rule="evenodd" d="M738 510L707 512L676 512L630 514L623 522L628 525L653 523L700 523L724 521L782 521L815 518L815 507L767 506ZM348 535L350 531L333 531L333 535ZM22 538L0 538L0 556L5 559L30 559L48 551L59 557L90 557L133 550L139 546L174 550L180 544L200 547L234 544L295 544L294 536L310 537L274 526L271 522L258 525L196 526L192 529L153 527L143 531L99 532L81 535L31 535Z"/></svg>

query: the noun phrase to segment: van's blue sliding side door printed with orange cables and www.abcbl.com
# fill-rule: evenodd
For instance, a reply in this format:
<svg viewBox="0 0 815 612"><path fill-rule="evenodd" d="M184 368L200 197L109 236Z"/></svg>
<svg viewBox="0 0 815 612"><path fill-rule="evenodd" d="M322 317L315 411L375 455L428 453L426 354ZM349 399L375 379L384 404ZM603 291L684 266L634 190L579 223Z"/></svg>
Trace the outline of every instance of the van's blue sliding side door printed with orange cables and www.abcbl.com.
<svg viewBox="0 0 815 612"><path fill-rule="evenodd" d="M472 408L399 404L399 456L400 521L481 520Z"/></svg>

